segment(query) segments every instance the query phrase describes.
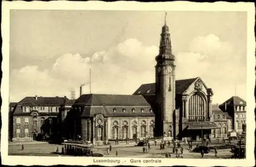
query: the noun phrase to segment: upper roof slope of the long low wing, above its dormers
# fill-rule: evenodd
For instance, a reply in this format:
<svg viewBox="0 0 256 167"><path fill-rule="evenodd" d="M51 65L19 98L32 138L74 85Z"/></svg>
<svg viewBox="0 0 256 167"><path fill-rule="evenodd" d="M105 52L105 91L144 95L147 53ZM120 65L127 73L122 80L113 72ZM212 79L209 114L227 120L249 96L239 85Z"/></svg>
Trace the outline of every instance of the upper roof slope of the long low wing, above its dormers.
<svg viewBox="0 0 256 167"><path fill-rule="evenodd" d="M74 105L83 106L150 106L143 96L122 94L82 94Z"/></svg>

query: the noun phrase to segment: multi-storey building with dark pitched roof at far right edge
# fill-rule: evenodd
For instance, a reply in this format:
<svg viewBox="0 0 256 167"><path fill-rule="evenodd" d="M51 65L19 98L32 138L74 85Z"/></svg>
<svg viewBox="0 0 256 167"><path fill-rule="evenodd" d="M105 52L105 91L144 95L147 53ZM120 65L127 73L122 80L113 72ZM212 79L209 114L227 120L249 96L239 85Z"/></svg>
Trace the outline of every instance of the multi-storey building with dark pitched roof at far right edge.
<svg viewBox="0 0 256 167"><path fill-rule="evenodd" d="M220 109L232 117L232 129L241 134L243 126L246 125L246 101L240 97L233 96L222 103Z"/></svg>

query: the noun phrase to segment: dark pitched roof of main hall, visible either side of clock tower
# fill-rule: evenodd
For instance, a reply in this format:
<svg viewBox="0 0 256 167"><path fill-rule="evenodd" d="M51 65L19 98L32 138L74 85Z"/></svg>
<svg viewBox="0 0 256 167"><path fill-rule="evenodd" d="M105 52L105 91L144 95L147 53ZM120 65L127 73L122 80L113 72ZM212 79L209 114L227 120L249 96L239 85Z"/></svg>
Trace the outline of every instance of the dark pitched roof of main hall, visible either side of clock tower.
<svg viewBox="0 0 256 167"><path fill-rule="evenodd" d="M188 86L195 82L197 78L190 78L184 80L176 80L176 94L182 94ZM155 83L143 84L141 85L133 94L142 94L142 95L153 95L156 93Z"/></svg>

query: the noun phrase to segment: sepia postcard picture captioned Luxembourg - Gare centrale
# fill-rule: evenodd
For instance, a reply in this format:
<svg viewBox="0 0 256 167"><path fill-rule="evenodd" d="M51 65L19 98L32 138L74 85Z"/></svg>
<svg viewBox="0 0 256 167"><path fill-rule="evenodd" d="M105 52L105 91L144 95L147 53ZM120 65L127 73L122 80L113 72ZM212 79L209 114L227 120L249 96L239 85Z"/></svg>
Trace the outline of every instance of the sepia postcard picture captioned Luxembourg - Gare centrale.
<svg viewBox="0 0 256 167"><path fill-rule="evenodd" d="M248 12L157 9L10 9L7 156L246 160Z"/></svg>

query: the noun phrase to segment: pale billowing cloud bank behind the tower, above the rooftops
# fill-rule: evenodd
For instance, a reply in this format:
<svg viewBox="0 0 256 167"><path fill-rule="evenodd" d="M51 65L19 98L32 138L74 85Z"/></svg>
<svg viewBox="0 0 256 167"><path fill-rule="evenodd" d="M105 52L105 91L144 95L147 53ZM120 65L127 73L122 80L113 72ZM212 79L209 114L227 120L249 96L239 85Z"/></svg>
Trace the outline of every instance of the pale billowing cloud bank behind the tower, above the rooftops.
<svg viewBox="0 0 256 167"><path fill-rule="evenodd" d="M38 66L15 69L11 74L11 99L25 96L64 96L86 83L83 93L89 93L89 69L92 69L92 92L132 94L141 84L155 82L155 57L158 46L145 46L130 38L95 52L89 57L65 54L58 57L51 68ZM188 51L176 55L176 79L201 77L214 90L215 102L223 102L233 95L233 83L239 85L241 97L246 97L246 65L243 55L218 36L209 34L191 41ZM78 97L78 94L77 94Z"/></svg>

